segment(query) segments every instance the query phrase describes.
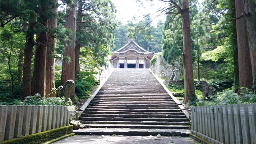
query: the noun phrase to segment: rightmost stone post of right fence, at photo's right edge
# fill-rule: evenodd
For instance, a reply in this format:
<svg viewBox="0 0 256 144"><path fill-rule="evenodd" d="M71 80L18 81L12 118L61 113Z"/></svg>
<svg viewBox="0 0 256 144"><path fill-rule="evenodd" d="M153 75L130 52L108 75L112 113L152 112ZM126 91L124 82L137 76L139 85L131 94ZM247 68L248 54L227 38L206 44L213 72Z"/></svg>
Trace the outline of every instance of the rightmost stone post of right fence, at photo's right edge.
<svg viewBox="0 0 256 144"><path fill-rule="evenodd" d="M256 144L256 105L248 104L248 118L251 134L251 143Z"/></svg>

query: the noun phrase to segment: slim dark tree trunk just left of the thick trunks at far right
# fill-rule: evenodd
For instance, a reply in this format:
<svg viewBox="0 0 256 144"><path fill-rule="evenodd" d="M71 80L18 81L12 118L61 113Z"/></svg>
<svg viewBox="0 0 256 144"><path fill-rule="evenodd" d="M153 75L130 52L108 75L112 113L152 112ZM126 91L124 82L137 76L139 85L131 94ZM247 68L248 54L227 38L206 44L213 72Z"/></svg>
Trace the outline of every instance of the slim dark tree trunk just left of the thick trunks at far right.
<svg viewBox="0 0 256 144"><path fill-rule="evenodd" d="M236 5L235 0L230 0L231 4L231 17L236 18ZM237 34L236 34L236 21L232 21L233 32L233 47L234 47L234 74L235 74L235 92L238 92L239 86L239 63L238 63L238 46L237 46Z"/></svg>

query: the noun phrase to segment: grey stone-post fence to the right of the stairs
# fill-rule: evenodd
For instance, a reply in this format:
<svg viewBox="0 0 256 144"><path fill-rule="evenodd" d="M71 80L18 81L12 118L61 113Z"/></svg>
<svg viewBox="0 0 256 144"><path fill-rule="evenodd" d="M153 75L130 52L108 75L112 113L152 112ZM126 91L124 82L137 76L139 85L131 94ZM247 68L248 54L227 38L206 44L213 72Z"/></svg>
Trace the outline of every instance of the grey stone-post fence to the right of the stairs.
<svg viewBox="0 0 256 144"><path fill-rule="evenodd" d="M256 144L256 104L191 107L191 133L212 144Z"/></svg>

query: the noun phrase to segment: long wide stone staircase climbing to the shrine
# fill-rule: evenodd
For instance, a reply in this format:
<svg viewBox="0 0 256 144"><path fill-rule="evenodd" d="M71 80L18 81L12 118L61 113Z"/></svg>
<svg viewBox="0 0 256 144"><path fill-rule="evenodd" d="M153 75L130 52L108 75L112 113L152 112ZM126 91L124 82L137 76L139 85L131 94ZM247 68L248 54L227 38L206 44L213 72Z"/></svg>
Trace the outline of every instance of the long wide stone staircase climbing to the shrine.
<svg viewBox="0 0 256 144"><path fill-rule="evenodd" d="M148 69L115 69L79 120L87 128L187 129L190 125Z"/></svg>

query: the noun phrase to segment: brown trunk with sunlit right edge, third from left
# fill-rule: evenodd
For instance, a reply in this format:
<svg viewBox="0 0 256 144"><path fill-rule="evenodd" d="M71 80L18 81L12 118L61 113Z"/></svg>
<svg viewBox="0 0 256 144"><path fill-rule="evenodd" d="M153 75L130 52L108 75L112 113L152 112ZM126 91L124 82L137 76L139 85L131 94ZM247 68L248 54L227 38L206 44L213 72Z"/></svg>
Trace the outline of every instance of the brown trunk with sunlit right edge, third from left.
<svg viewBox="0 0 256 144"><path fill-rule="evenodd" d="M53 2L58 4L58 0L53 0ZM49 31L54 31L57 27L58 23L58 7L52 10L56 15L53 19L49 19L48 21L48 28ZM56 47L56 38L52 37L52 35L56 35L56 33L48 34L47 38L47 52L46 52L46 88L45 93L49 97L54 97L55 93L52 91L52 88L55 87L55 58L52 56L52 53L55 51Z"/></svg>

